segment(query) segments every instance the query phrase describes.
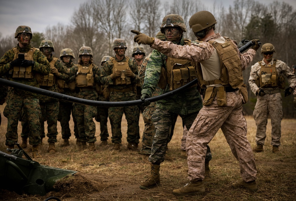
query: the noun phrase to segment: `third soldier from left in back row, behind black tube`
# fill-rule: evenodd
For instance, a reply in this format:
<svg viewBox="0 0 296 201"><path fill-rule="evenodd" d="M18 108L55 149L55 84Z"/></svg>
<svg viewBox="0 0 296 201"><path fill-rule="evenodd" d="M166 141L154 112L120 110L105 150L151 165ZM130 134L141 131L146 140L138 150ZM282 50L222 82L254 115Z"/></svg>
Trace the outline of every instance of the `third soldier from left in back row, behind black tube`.
<svg viewBox="0 0 296 201"><path fill-rule="evenodd" d="M74 66L73 60L75 59L73 50L71 50L70 48L62 49L59 58L64 63L64 66L67 69L67 72L70 73L70 69ZM73 82L73 84L75 84L75 82ZM65 80L58 80L58 87L59 87L59 92L62 94L70 95L73 97L77 96L74 90L73 91L70 90L69 85L67 85L67 81ZM74 136L77 140L79 138L79 135L78 135L76 117L73 109L73 103L60 100L59 115L57 120L61 123L61 127L62 127L62 139L64 139L64 143L61 145L62 147L70 145L69 138L71 136L71 130L69 126L69 121L70 121L71 113L72 113L72 118L74 122Z"/></svg>

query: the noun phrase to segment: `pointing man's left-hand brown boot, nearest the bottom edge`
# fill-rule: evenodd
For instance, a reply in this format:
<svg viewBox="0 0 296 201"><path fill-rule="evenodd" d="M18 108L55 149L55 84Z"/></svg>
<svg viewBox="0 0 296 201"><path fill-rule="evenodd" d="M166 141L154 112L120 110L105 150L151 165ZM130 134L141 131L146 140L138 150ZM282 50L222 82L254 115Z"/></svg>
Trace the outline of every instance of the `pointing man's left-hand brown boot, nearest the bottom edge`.
<svg viewBox="0 0 296 201"><path fill-rule="evenodd" d="M205 186L201 179L190 182L183 188L173 190L173 195L205 195Z"/></svg>

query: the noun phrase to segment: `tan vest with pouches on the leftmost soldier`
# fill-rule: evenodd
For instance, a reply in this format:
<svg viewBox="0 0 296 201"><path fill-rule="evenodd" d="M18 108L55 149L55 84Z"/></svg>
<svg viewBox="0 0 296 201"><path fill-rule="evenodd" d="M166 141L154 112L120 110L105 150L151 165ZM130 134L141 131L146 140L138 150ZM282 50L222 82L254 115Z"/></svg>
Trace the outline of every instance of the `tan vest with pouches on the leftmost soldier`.
<svg viewBox="0 0 296 201"><path fill-rule="evenodd" d="M17 49L17 47L12 48L12 50L15 53L15 57L13 58L13 60L16 60L18 58L18 55L21 53L25 55L25 60L34 61L33 54L37 49L34 47L31 47L29 52L26 52L26 53L20 52ZM15 66L13 67L12 70L10 70L10 73L12 74L12 78L25 78L25 79L34 78L34 74L32 72L32 66L28 66L28 67Z"/></svg>

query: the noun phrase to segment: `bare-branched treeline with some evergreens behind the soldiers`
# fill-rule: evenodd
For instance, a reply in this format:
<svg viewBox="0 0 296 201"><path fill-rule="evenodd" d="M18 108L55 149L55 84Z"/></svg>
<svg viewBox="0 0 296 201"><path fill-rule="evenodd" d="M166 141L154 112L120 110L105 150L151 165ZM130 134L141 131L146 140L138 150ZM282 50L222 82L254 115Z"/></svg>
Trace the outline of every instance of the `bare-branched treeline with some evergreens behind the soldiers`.
<svg viewBox="0 0 296 201"><path fill-rule="evenodd" d="M187 32L184 38L196 40L188 22L192 14L208 10L217 20L215 32L239 42L242 39L260 39L262 44L272 43L276 53L274 58L287 63L289 67L296 64L296 11L284 2L273 1L261 4L254 0L236 0L229 8L223 4L214 4L210 8L200 0L89 0L73 11L71 23L48 26L45 32L33 32L31 45L39 48L43 39L52 40L55 47L54 56L59 57L63 48L71 48L78 59L81 46L89 46L94 53L94 63L99 65L104 55L114 56L112 41L123 38L128 43L126 56L131 57L133 42L131 29L139 30L149 36L160 31L162 19L167 14L179 14L184 18ZM30 26L30 24L28 24ZM0 33L0 55L17 44L14 33L3 37ZM145 45L146 55L152 49ZM263 56L258 50L251 65ZM248 85L251 67L244 70L244 82ZM288 87L288 83L287 83ZM248 87L249 88L249 87ZM284 98L284 118L295 118L292 95ZM244 105L244 112L252 115L256 97L249 88L249 102Z"/></svg>

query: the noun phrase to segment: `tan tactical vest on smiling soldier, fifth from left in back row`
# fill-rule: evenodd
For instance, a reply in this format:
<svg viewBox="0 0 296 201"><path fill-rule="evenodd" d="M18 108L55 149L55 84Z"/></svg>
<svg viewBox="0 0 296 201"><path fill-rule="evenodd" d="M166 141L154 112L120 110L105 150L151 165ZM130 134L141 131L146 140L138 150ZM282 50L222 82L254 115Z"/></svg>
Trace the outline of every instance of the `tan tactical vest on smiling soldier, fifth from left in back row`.
<svg viewBox="0 0 296 201"><path fill-rule="evenodd" d="M113 81L114 85L131 84L131 78L129 76L126 76L124 73L127 69L131 69L128 65L129 57L125 57L125 58L126 58L126 61L123 61L123 62L115 61L115 57L110 58L110 60L113 63L112 72L114 73L115 70L119 70L121 72L120 77L115 78L115 80Z"/></svg>

